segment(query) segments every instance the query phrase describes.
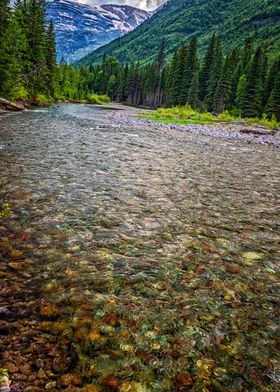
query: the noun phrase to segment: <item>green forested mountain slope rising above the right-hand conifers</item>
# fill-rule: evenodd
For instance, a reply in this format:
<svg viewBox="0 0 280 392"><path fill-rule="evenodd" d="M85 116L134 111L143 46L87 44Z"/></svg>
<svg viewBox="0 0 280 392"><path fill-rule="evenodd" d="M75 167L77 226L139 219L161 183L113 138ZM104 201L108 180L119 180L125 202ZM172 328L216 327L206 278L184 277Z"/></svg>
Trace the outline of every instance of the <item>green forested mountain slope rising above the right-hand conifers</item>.
<svg viewBox="0 0 280 392"><path fill-rule="evenodd" d="M251 36L258 42L267 39L269 49L279 51L279 0L170 0L134 31L94 51L79 64L96 63L103 54L123 62L145 63L155 58L160 38L165 39L167 54L193 35L199 38L202 50L213 32L222 35L227 48Z"/></svg>

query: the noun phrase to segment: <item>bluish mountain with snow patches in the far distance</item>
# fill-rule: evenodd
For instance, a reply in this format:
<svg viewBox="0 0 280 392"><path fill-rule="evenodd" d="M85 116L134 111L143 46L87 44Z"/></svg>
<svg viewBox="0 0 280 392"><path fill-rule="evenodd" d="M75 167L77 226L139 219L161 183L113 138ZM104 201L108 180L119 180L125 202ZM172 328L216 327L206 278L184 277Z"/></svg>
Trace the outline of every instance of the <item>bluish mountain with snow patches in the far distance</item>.
<svg viewBox="0 0 280 392"><path fill-rule="evenodd" d="M73 62L133 30L151 14L128 5L89 6L71 0L49 0L47 18L53 20L57 57Z"/></svg>

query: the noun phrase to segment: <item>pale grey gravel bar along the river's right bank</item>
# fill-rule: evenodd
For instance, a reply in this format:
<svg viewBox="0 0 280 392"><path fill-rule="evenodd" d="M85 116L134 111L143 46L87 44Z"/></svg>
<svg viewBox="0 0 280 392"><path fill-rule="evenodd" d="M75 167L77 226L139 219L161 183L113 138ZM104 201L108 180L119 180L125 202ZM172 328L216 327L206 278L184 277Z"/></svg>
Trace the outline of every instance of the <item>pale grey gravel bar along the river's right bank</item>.
<svg viewBox="0 0 280 392"><path fill-rule="evenodd" d="M175 130L196 135L210 136L215 139L226 139L241 141L248 144L263 144L272 147L280 147L280 131L269 131L262 127L245 127L244 123L226 124L219 123L213 125L201 124L167 124L155 122L150 119L137 117L148 112L132 107L120 107L124 110L114 113L114 120L121 125L136 126L145 128L156 128L158 130ZM259 131L257 131L259 129Z"/></svg>

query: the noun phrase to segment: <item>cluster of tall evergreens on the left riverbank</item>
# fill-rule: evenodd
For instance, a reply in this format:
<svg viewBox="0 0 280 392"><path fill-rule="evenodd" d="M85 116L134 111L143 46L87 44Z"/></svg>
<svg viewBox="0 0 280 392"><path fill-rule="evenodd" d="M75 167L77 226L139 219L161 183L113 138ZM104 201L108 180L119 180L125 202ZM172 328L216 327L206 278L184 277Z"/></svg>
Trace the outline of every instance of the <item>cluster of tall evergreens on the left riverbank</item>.
<svg viewBox="0 0 280 392"><path fill-rule="evenodd" d="M0 95L31 101L38 94L54 96L55 41L46 26L44 1L19 0L9 18L1 5L2 19Z"/></svg>

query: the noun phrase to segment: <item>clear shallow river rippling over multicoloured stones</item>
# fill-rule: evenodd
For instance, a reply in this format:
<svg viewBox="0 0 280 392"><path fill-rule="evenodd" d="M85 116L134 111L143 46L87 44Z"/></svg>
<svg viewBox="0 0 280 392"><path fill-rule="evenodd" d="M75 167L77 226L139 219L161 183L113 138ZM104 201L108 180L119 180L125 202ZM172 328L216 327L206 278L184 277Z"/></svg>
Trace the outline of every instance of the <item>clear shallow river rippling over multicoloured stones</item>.
<svg viewBox="0 0 280 392"><path fill-rule="evenodd" d="M32 238L42 328L88 391L279 390L279 151L112 114L0 119L4 225Z"/></svg>

